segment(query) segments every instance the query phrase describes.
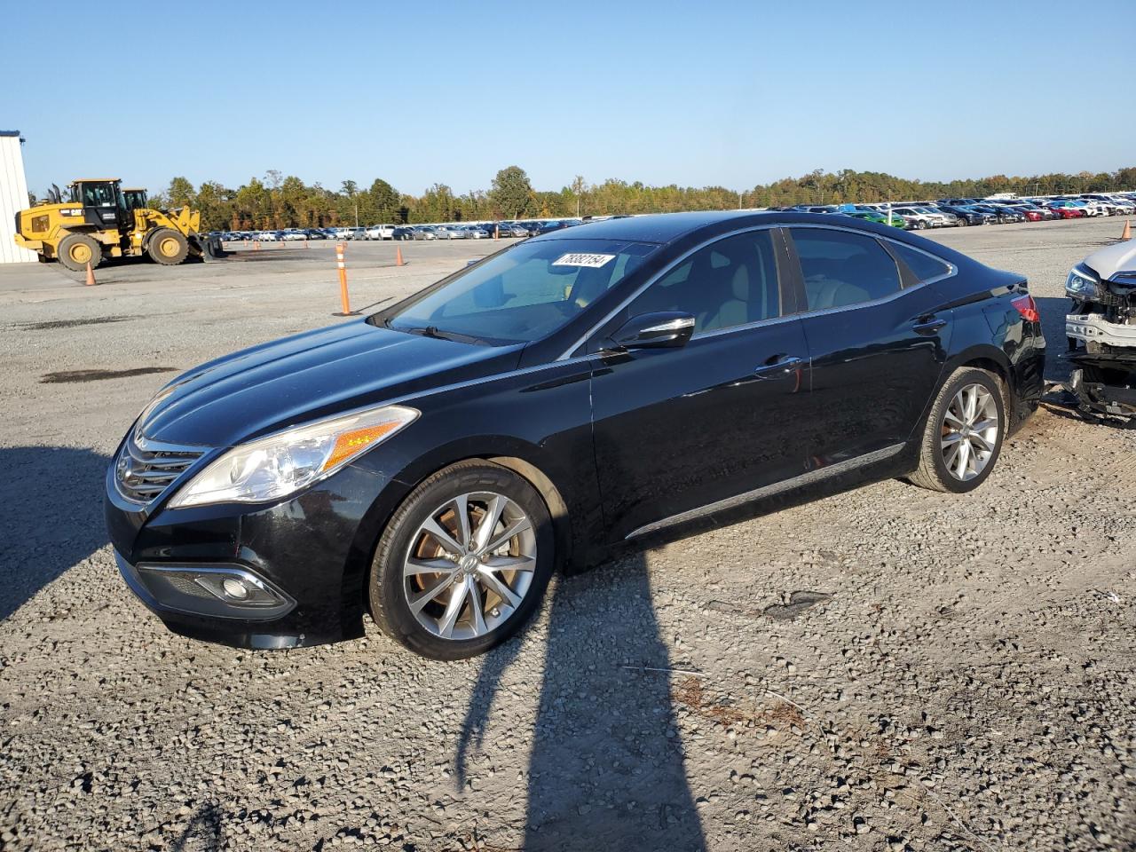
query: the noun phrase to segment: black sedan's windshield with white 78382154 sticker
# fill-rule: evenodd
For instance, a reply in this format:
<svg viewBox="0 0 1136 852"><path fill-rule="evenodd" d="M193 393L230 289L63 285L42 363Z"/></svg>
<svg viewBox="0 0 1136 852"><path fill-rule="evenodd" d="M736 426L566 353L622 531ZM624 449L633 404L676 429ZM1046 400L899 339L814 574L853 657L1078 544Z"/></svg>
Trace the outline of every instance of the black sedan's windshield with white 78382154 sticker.
<svg viewBox="0 0 1136 852"><path fill-rule="evenodd" d="M527 343L579 315L658 248L611 240L524 242L368 321L431 337Z"/></svg>

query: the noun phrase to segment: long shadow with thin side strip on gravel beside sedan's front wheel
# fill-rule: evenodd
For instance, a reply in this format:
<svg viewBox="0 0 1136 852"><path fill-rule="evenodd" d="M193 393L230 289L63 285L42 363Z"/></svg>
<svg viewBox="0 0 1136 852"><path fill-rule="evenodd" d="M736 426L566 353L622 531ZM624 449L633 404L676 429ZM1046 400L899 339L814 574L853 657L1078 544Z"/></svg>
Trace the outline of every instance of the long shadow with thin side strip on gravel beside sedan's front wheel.
<svg viewBox="0 0 1136 852"><path fill-rule="evenodd" d="M521 849L704 849L644 556L559 577L550 594ZM459 786L521 644L482 665L456 755Z"/></svg>

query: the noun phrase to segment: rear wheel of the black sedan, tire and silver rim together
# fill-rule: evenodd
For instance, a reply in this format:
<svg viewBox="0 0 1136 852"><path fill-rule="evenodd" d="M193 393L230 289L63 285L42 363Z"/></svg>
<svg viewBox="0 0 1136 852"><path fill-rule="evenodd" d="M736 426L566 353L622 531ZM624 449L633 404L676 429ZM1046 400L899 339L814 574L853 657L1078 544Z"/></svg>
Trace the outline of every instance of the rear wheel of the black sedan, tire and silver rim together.
<svg viewBox="0 0 1136 852"><path fill-rule="evenodd" d="M966 407L971 394L976 406L974 416L968 417ZM992 426L971 431L974 425L986 423ZM994 469L1005 429L1002 382L986 370L960 367L935 398L919 446L919 467L908 477L909 482L953 494L974 491ZM952 435L954 438L947 441Z"/></svg>

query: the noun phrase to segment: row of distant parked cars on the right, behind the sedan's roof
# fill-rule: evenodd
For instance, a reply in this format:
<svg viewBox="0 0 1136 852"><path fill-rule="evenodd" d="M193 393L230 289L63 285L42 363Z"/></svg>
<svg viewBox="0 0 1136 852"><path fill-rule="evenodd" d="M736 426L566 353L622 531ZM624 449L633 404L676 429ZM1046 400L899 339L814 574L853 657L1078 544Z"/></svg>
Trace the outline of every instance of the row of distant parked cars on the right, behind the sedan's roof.
<svg viewBox="0 0 1136 852"><path fill-rule="evenodd" d="M1136 214L1136 193L1087 193L1045 198L943 198L935 201L905 201L891 204L796 204L772 209L838 214L905 231L924 231L966 225L1072 219L1084 216L1133 215Z"/></svg>

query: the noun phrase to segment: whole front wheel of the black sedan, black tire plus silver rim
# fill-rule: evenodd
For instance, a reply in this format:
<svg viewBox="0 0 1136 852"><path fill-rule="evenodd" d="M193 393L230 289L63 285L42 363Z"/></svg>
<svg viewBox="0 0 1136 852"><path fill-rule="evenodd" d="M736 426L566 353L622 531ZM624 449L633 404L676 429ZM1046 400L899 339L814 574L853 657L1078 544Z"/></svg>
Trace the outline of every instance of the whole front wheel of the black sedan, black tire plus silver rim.
<svg viewBox="0 0 1136 852"><path fill-rule="evenodd" d="M499 519L481 535L481 523L493 517L494 508ZM510 529L516 532L504 538ZM484 553L479 543L498 546ZM484 653L532 618L552 576L554 548L552 521L536 488L499 465L459 462L415 488L383 531L368 582L371 617L386 635L423 657L460 660ZM423 570L429 568L438 570Z"/></svg>

